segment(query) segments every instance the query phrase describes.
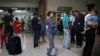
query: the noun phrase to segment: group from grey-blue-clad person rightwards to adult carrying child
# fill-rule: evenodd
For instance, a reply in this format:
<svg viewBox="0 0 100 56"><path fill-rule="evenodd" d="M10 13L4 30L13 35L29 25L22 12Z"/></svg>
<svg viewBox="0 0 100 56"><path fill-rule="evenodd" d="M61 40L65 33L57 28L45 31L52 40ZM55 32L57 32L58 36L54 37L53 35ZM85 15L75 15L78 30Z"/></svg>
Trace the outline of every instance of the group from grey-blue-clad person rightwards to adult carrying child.
<svg viewBox="0 0 100 56"><path fill-rule="evenodd" d="M87 14L82 14L78 10L72 11L69 16L68 13L63 13L60 24L63 29L63 48L71 50L71 42L76 43L76 48L83 46L83 40L85 40L85 47L83 49L83 56L91 56L94 43L95 33L98 27L98 16L95 4L87 4ZM56 55L56 49L54 45L54 35L57 25L54 23L55 13L48 12L48 18L46 21L46 32L49 40L49 47L47 48L47 55ZM59 30L61 32L61 30ZM76 38L75 38L76 36ZM53 52L53 54L52 54Z"/></svg>

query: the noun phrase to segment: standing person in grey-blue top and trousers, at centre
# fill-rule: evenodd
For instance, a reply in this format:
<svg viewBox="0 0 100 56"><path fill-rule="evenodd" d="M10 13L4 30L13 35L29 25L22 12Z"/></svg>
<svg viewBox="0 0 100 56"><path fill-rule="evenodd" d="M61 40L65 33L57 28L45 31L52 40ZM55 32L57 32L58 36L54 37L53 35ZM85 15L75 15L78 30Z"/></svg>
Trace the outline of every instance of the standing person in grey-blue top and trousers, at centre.
<svg viewBox="0 0 100 56"><path fill-rule="evenodd" d="M53 19L55 17L55 12L49 11L47 14L48 18L46 20L46 33L49 41L49 46L47 48L47 56L55 56L55 45L54 45L54 35L56 32L56 24Z"/></svg>

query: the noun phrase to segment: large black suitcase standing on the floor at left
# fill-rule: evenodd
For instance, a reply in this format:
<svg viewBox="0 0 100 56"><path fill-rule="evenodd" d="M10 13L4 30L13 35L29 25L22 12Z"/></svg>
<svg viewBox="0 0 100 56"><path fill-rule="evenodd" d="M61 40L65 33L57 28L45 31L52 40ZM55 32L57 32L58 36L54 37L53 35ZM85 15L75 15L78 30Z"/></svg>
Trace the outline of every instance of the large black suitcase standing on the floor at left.
<svg viewBox="0 0 100 56"><path fill-rule="evenodd" d="M18 55L22 53L21 39L19 36L12 36L7 42L7 51L10 55Z"/></svg>

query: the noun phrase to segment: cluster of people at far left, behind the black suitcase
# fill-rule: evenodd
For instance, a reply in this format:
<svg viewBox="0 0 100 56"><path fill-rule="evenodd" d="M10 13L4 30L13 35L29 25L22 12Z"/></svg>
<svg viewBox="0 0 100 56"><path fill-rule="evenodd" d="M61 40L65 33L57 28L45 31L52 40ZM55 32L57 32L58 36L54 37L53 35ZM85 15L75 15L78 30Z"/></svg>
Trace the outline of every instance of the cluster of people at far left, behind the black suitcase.
<svg viewBox="0 0 100 56"><path fill-rule="evenodd" d="M16 17L13 19L13 10L8 9L8 13L0 19L0 49L6 46L7 42L14 34L19 35L23 31L23 22Z"/></svg>

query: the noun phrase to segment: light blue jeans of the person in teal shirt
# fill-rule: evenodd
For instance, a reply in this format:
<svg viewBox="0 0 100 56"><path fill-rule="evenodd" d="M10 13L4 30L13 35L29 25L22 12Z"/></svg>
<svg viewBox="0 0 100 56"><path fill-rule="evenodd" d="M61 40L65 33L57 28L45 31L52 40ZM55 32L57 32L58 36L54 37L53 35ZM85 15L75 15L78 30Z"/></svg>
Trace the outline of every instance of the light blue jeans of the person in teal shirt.
<svg viewBox="0 0 100 56"><path fill-rule="evenodd" d="M70 33L68 29L63 29L64 31L64 38L63 38L63 48L68 49L70 47Z"/></svg>

